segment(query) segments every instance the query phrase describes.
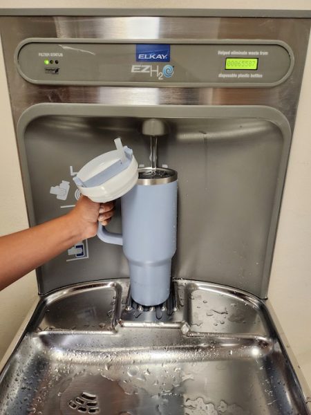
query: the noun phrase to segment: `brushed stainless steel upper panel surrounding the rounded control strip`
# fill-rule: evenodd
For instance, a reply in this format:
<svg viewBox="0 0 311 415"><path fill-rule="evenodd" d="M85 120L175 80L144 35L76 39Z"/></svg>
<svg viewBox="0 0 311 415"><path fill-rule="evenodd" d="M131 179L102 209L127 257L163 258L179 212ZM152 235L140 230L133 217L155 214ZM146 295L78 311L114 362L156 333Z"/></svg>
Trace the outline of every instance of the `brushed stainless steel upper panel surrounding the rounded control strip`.
<svg viewBox="0 0 311 415"><path fill-rule="evenodd" d="M279 109L294 126L310 21L308 19L201 17L1 17L12 111L21 113L38 102L93 102L102 104L269 105ZM12 28L15 28L12 30ZM292 48L295 66L287 82L272 89L160 89L130 87L35 86L15 68L18 44L29 37L59 39L275 39Z"/></svg>

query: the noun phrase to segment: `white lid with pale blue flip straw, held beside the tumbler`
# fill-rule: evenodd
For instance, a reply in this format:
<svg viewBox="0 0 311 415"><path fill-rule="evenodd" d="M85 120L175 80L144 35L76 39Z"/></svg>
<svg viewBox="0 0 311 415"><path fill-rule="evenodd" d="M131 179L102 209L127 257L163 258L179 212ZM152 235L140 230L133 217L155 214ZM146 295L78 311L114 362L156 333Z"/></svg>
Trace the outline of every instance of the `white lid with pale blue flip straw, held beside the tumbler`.
<svg viewBox="0 0 311 415"><path fill-rule="evenodd" d="M116 150L93 158L73 178L84 196L94 202L113 201L131 190L138 181L138 163L133 151L115 139Z"/></svg>

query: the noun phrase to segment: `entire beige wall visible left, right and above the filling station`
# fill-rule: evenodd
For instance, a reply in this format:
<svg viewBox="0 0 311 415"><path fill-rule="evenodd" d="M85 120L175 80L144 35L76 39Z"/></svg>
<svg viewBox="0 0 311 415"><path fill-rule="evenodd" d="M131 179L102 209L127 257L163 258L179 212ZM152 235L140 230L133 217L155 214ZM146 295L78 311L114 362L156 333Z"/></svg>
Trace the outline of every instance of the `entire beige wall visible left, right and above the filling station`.
<svg viewBox="0 0 311 415"><path fill-rule="evenodd" d="M131 2L132 3L132 2ZM136 6L158 7L163 3L169 7L178 4L172 0L135 1ZM256 8L256 3L248 0L218 0L217 8ZM126 0L89 0L88 7L114 7L129 5ZM194 8L215 7L215 1L191 1ZM3 7L42 7L41 0L0 0ZM46 3L47 7L50 4ZM55 0L54 7L83 7L84 0ZM294 8L310 10L310 0L261 0L261 8ZM0 233L14 232L27 226L26 208L21 187L21 176L12 127L10 104L3 57L0 53L0 113L1 151L0 176ZM276 243L274 264L270 284L270 300L285 334L294 350L296 358L311 385L311 49L305 68L303 89L299 103L296 129L290 156L288 178L285 186L281 219ZM34 273L24 277L0 293L0 358L15 335L23 316L36 297L37 287Z"/></svg>

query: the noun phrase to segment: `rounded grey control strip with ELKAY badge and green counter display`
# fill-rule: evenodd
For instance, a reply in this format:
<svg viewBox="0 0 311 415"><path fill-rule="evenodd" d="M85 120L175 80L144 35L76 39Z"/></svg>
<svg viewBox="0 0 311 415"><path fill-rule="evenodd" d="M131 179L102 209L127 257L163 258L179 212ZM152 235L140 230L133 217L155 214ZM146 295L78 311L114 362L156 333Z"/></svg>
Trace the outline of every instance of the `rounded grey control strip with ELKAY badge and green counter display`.
<svg viewBox="0 0 311 415"><path fill-rule="evenodd" d="M35 84L241 87L280 84L292 71L294 55L279 41L27 39L16 63L20 75Z"/></svg>

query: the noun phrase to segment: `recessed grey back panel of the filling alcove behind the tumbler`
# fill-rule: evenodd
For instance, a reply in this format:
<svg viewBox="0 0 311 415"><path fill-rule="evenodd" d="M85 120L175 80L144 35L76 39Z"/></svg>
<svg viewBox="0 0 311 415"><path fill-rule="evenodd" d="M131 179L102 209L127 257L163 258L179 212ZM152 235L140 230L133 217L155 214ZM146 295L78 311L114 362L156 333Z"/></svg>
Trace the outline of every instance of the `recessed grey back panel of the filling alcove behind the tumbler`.
<svg viewBox="0 0 311 415"><path fill-rule="evenodd" d="M254 118L263 111L260 107L253 113L247 107L214 108L214 116L209 107L40 108L41 113L68 115L39 117L39 108L32 108L21 120L19 151L28 176L32 225L68 212L77 197L70 169L78 171L111 150L116 136L133 149L138 163L149 165L142 123L148 116L162 116L169 133L158 140L158 165L176 169L179 178L173 277L209 279L265 297L290 146L289 129L274 124L284 122L279 113L265 109L269 121ZM74 116L77 111L84 115ZM247 113L249 118L240 118ZM68 182L66 201L50 194L50 187L62 181ZM121 231L119 205L109 228ZM120 246L97 238L84 244L87 258L77 260L66 251L41 267L41 293L129 275Z"/></svg>

